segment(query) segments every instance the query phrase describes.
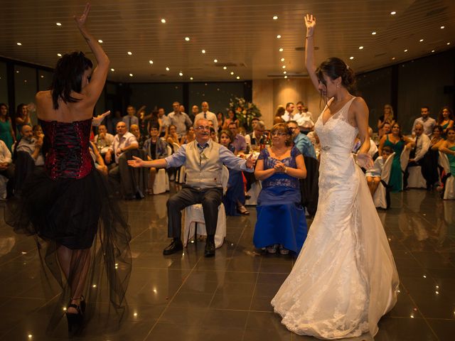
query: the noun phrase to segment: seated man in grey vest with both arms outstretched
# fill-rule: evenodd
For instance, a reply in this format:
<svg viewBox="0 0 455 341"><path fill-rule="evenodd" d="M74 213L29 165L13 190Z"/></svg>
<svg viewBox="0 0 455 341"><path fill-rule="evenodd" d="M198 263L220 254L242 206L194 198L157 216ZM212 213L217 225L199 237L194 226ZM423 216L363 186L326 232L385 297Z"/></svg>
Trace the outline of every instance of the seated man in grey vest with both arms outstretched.
<svg viewBox="0 0 455 341"><path fill-rule="evenodd" d="M181 146L177 153L167 158L154 161L143 161L134 158L128 161L132 167L180 167L186 166L186 184L180 192L173 195L167 202L168 208L168 237L173 238L171 244L164 249L163 254L174 254L183 249L181 242L181 210L185 207L202 204L207 230L204 256L215 256L215 232L218 220L218 207L223 200L221 174L223 163L228 168L238 171L252 171L252 158L241 159L228 148L210 139L208 120L196 121L196 140Z"/></svg>

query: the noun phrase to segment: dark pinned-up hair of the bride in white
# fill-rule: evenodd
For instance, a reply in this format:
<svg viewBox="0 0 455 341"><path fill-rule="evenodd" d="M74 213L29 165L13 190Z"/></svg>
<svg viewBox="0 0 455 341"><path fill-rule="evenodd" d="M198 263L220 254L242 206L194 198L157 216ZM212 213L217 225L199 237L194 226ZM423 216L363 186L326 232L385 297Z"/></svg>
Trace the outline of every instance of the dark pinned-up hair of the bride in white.
<svg viewBox="0 0 455 341"><path fill-rule="evenodd" d="M332 57L324 60L316 69L316 76L319 81L326 85L323 75L326 74L331 80L336 80L341 77L343 87L351 92L355 90L355 74L354 71L346 65L340 58Z"/></svg>

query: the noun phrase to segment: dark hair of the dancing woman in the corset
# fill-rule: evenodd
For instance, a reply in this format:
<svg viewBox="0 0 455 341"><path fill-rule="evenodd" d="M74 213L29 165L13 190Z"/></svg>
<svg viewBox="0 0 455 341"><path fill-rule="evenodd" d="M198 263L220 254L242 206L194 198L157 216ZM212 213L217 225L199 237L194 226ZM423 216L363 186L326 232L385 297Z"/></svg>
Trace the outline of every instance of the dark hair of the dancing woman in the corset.
<svg viewBox="0 0 455 341"><path fill-rule="evenodd" d="M92 60L85 57L82 52L73 52L63 55L55 65L52 84L53 108L58 109L58 99L63 99L65 103L79 102L71 96L71 92L80 92L82 89L82 75L84 71L93 67Z"/></svg>

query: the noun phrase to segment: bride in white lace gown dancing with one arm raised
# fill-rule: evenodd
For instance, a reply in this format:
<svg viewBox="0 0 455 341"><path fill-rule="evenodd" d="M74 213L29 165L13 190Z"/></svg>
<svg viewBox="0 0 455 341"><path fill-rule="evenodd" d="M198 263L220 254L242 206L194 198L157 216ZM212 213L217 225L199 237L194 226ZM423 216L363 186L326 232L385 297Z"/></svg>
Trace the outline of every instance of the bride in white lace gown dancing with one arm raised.
<svg viewBox="0 0 455 341"><path fill-rule="evenodd" d="M349 93L354 74L343 60L330 58L316 70L316 18L305 19L306 68L329 99L315 125L321 141L319 203L299 258L272 305L299 335L374 336L378 321L397 301L399 279L365 175L351 153L359 134L357 163L372 165L368 107Z"/></svg>

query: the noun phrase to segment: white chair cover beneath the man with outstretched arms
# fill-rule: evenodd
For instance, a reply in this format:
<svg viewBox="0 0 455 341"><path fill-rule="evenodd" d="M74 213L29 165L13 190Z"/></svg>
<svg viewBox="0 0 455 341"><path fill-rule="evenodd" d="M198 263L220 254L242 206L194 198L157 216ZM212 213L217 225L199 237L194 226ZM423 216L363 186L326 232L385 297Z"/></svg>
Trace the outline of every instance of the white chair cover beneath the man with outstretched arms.
<svg viewBox="0 0 455 341"><path fill-rule="evenodd" d="M223 166L221 183L223 194L228 190L229 170ZM198 231L196 232L196 224ZM206 236L204 212L201 204L191 205L185 208L185 222L183 224L183 246L186 247L188 240L195 237L195 233ZM218 220L215 232L215 248L221 247L226 237L226 212L223 202L218 206Z"/></svg>

